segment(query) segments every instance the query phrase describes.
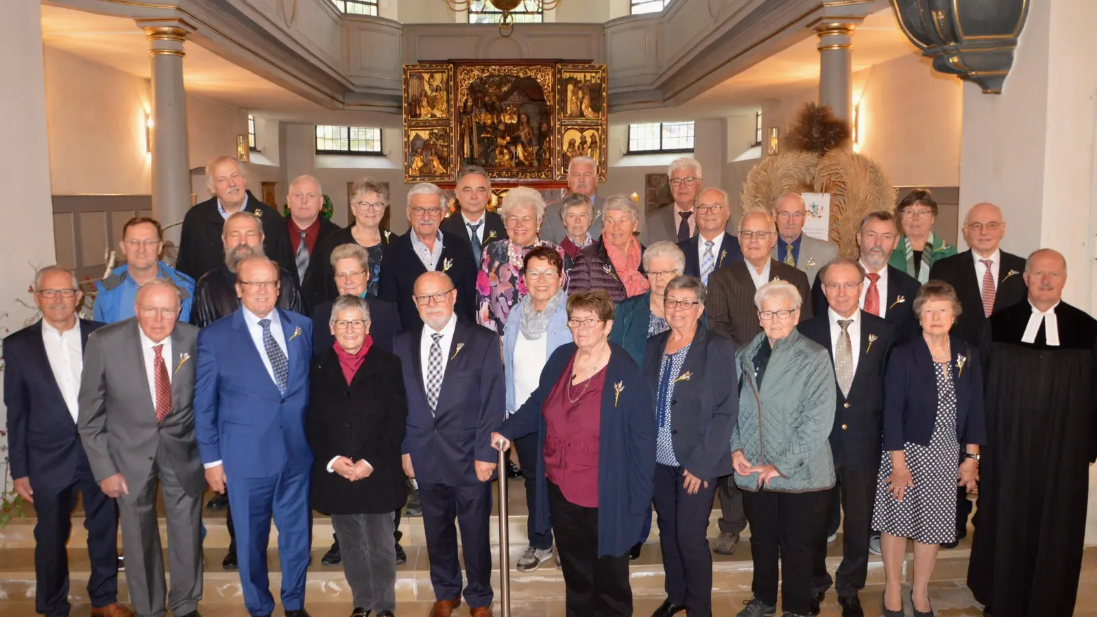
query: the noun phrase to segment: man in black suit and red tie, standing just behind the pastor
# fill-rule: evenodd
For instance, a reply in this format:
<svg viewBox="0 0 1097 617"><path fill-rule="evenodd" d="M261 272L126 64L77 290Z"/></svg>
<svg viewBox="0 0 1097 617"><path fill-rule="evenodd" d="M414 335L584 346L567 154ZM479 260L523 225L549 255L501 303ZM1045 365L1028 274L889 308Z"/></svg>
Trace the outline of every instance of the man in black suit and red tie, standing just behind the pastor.
<svg viewBox="0 0 1097 617"><path fill-rule="evenodd" d="M963 311L952 332L970 345L980 344L987 317L1028 296L1022 276L1025 258L1000 249L1005 235L1002 210L993 203L977 203L968 211L963 222L963 238L971 248L936 261L929 270L930 279L945 281L957 290ZM942 547L955 548L968 536L971 511L966 489L957 489L957 539Z"/></svg>

